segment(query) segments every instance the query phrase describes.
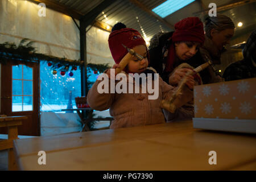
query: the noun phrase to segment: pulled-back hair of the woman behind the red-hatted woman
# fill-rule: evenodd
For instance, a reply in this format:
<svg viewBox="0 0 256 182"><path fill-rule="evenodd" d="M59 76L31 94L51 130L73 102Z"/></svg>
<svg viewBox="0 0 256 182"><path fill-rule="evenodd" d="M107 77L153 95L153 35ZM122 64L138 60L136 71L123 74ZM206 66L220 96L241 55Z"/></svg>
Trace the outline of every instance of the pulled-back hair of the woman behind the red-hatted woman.
<svg viewBox="0 0 256 182"><path fill-rule="evenodd" d="M213 28L217 31L222 31L229 28L235 28L235 26L232 19L230 19L228 16L217 14L217 16L212 16L212 17L208 16L205 19L204 30L208 38L211 38L210 31Z"/></svg>

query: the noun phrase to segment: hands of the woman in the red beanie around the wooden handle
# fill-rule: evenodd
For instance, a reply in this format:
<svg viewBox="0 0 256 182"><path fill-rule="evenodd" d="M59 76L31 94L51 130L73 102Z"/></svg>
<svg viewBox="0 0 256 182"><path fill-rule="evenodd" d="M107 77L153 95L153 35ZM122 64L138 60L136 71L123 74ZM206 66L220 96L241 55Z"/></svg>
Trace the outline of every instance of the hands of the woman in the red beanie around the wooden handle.
<svg viewBox="0 0 256 182"><path fill-rule="evenodd" d="M176 86L179 84L180 80L186 75L188 71L191 71L191 69L188 68L179 68L176 69L174 73L169 77L169 84ZM189 89L193 89L193 86L195 85L195 80L192 75L187 76L187 82L186 85L188 86Z"/></svg>

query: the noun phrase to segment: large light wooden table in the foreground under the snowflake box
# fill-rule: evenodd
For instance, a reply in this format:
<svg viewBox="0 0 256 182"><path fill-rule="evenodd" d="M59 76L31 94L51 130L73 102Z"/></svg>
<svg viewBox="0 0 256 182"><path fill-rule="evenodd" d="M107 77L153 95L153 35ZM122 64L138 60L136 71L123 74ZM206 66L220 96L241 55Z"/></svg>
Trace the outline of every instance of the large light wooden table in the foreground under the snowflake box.
<svg viewBox="0 0 256 182"><path fill-rule="evenodd" d="M256 135L193 129L192 121L19 139L14 149L22 170L256 170Z"/></svg>

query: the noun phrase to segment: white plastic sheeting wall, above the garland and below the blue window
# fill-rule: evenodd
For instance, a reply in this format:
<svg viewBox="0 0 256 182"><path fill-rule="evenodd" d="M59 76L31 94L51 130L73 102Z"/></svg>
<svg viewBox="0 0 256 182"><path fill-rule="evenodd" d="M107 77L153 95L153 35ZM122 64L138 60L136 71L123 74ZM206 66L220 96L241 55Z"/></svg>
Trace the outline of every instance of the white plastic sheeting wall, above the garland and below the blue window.
<svg viewBox="0 0 256 182"><path fill-rule="evenodd" d="M42 7L29 1L1 0L0 43L14 42L18 45L20 40L27 38L35 42L33 46L38 53L79 60L80 32L72 18L47 7L46 16L39 16L40 9ZM86 32L88 63L114 64L108 36L109 32L96 27ZM77 117L76 113L42 112L42 136L79 131L81 124Z"/></svg>

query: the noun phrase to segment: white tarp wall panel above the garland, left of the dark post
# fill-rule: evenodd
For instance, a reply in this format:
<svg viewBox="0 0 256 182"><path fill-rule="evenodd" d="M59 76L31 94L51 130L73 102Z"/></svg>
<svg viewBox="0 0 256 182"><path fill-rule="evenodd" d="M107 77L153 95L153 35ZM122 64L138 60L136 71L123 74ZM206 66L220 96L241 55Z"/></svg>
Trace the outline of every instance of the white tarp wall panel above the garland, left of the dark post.
<svg viewBox="0 0 256 182"><path fill-rule="evenodd" d="M15 42L28 38L36 43L37 52L47 55L80 58L79 30L72 18L46 9L40 17L40 7L19 0L0 1L0 42Z"/></svg>

